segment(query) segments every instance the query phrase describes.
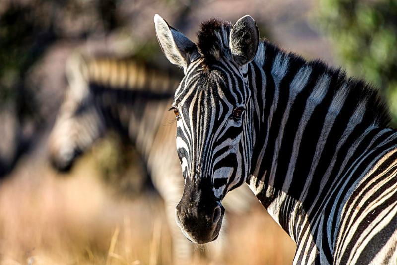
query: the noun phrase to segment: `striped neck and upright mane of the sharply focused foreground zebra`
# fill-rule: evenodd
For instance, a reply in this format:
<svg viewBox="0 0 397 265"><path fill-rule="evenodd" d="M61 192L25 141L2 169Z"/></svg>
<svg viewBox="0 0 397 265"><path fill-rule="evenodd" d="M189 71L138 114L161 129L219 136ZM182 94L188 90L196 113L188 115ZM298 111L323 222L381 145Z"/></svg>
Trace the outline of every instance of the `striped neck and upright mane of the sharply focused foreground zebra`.
<svg viewBox="0 0 397 265"><path fill-rule="evenodd" d="M383 133L388 115L366 83L267 41L248 67L248 82L254 147L247 183L299 241L301 225L315 222L355 150L371 146L369 136Z"/></svg>

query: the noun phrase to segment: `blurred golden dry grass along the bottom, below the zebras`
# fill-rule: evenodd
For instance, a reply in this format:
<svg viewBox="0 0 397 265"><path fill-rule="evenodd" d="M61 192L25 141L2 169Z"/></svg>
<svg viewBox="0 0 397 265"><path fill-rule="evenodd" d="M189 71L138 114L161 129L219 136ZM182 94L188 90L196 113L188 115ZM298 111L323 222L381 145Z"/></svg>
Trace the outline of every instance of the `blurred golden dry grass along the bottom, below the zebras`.
<svg viewBox="0 0 397 265"><path fill-rule="evenodd" d="M40 162L25 164L0 186L1 264L172 264L158 197L115 197L95 177L92 158L68 177ZM248 216L229 215L224 264L290 264L294 243L262 207L254 208ZM195 264L213 264L199 249Z"/></svg>

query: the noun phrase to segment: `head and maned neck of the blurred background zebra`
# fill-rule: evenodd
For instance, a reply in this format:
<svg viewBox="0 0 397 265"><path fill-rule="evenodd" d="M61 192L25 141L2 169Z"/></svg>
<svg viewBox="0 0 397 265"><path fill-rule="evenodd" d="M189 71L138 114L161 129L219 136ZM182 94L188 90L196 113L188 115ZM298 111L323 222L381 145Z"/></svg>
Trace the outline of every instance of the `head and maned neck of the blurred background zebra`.
<svg viewBox="0 0 397 265"><path fill-rule="evenodd" d="M148 159L182 78L169 70L136 56L92 57L74 52L66 63L69 88L50 137L55 168L70 168L78 154L108 131Z"/></svg>

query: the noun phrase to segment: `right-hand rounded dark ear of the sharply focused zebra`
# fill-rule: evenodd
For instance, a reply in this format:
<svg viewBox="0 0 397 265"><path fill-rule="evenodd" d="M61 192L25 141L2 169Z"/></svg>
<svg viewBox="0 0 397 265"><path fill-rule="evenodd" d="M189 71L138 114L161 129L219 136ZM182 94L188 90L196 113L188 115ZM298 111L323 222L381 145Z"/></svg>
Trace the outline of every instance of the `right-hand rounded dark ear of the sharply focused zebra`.
<svg viewBox="0 0 397 265"><path fill-rule="evenodd" d="M251 16L245 15L234 24L229 43L233 59L240 66L254 59L258 51L259 30Z"/></svg>

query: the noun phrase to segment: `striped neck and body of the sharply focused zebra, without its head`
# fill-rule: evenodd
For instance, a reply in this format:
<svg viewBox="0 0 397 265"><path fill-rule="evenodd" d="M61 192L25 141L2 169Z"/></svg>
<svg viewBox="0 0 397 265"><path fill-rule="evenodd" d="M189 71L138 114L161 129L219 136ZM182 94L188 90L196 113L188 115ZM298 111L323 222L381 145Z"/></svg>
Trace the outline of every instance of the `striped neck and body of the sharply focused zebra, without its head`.
<svg viewBox="0 0 397 265"><path fill-rule="evenodd" d="M252 102L267 122L247 182L297 243L294 263L396 263L397 133L375 92L263 45L249 86L271 103Z"/></svg>

